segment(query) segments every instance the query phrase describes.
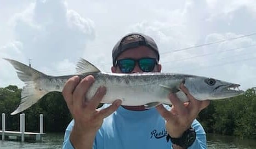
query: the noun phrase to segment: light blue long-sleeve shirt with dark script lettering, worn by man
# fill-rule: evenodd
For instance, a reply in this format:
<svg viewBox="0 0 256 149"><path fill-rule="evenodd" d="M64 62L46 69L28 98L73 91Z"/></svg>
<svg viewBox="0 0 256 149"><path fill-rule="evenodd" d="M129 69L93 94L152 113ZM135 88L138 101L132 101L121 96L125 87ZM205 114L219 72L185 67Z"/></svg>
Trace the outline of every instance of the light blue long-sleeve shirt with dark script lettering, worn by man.
<svg viewBox="0 0 256 149"><path fill-rule="evenodd" d="M104 105L105 108L109 105ZM165 106L169 109L169 106ZM73 148L70 142L70 132L74 121L68 125L62 148ZM206 133L198 121L192 123L196 130L196 140L189 148L207 148ZM94 149L136 149L136 148L172 148L172 142L166 140L167 131L165 120L156 108L145 111L130 111L120 106L117 111L104 119L103 125L98 130Z"/></svg>

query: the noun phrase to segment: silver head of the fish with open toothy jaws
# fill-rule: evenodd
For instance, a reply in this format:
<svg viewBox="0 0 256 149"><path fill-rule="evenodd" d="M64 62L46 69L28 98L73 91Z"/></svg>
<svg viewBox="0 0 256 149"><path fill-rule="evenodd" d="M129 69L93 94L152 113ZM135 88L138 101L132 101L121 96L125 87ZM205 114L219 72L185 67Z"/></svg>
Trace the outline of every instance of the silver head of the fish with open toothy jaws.
<svg viewBox="0 0 256 149"><path fill-rule="evenodd" d="M214 78L190 77L185 79L185 87L198 100L231 98L244 93L240 84L220 81Z"/></svg>

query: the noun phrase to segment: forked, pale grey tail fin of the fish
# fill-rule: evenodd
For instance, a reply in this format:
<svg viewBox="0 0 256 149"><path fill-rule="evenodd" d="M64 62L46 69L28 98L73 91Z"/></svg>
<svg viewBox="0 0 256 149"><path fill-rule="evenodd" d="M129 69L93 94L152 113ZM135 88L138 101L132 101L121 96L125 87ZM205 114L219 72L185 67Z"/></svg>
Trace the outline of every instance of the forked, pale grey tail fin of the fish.
<svg viewBox="0 0 256 149"><path fill-rule="evenodd" d="M20 105L14 112L11 113L14 115L26 110L33 104L36 104L39 99L48 93L47 91L41 89L37 84L38 79L45 78L47 75L25 64L22 64L21 62L11 59L4 60L7 60L13 65L13 67L17 70L19 79L26 83L26 86L21 91Z"/></svg>

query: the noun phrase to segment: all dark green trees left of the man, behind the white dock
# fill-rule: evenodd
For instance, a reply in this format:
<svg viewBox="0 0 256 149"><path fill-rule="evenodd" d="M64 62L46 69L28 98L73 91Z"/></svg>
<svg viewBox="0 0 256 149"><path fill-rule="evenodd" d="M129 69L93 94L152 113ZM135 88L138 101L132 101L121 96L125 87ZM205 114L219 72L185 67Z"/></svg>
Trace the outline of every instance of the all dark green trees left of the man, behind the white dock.
<svg viewBox="0 0 256 149"><path fill-rule="evenodd" d="M9 85L6 88L0 88L0 113L5 113L7 130L19 131L19 114L11 116L10 113L19 106L20 100L21 89L18 87ZM45 95L22 113L26 114L26 131L39 131L39 114L44 115L44 131L46 132L63 132L71 121L66 102L62 94L57 92Z"/></svg>

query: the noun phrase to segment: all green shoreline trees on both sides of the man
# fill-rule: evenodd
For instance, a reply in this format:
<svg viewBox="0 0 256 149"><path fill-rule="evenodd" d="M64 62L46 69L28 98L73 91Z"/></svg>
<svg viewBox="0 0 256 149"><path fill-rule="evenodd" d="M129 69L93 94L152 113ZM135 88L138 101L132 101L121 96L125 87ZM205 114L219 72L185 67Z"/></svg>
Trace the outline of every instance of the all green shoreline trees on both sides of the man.
<svg viewBox="0 0 256 149"><path fill-rule="evenodd" d="M5 113L6 130L19 131L19 114L10 115L20 104L21 89L15 85L0 88L0 114ZM45 133L63 133L72 117L61 93L45 95L35 105L23 111L26 131L39 131L39 114L44 115ZM197 117L206 133L256 139L256 88L235 98L211 101ZM2 128L2 118L0 119Z"/></svg>

